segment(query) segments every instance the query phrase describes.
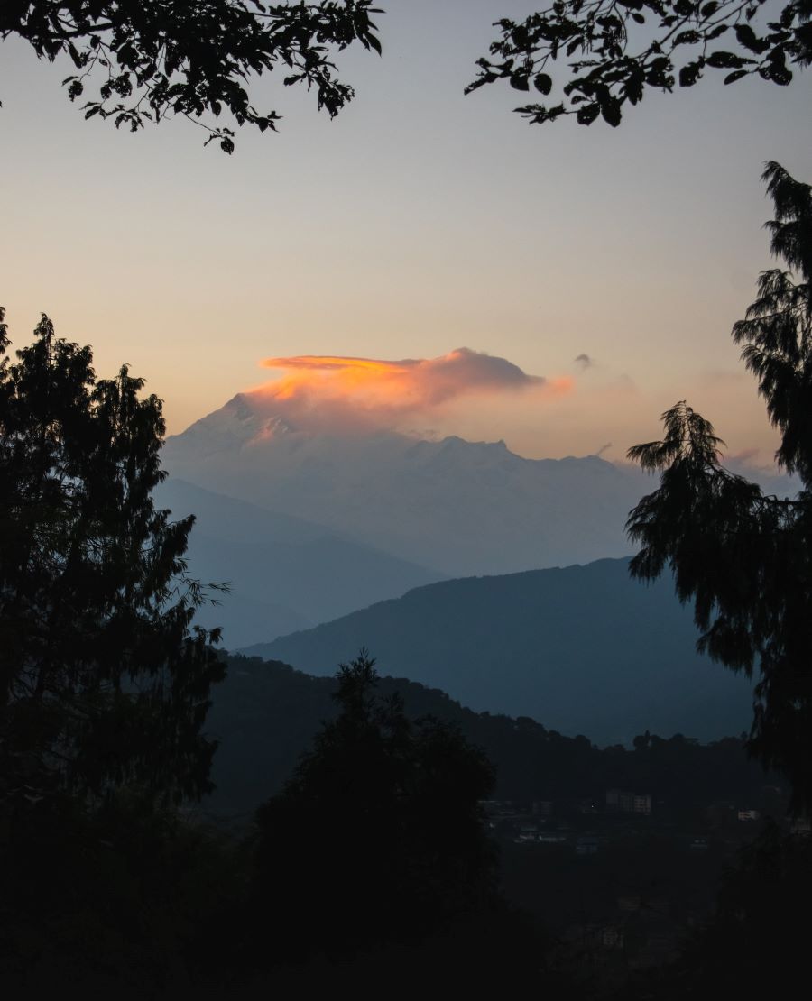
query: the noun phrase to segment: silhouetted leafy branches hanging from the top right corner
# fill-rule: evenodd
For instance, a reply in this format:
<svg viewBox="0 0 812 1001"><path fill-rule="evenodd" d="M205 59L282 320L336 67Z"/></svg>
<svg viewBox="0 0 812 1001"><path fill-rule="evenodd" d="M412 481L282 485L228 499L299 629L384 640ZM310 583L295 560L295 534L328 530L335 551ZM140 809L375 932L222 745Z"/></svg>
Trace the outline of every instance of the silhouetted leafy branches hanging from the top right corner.
<svg viewBox="0 0 812 1001"><path fill-rule="evenodd" d="M647 88L693 87L708 70L725 83L758 76L779 86L812 60L812 0L780 10L768 0L556 0L522 21L497 21L501 37L467 93L497 80L560 96L516 111L537 124L575 115L619 125Z"/></svg>

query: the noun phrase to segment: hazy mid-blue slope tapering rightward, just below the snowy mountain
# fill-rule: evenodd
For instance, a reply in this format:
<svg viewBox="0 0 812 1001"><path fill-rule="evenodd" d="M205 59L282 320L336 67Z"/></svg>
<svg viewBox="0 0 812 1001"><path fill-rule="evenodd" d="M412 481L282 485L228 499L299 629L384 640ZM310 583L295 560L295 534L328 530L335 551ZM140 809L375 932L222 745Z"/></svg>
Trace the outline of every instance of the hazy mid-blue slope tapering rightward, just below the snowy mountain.
<svg viewBox="0 0 812 1001"><path fill-rule="evenodd" d="M228 647L307 629L440 580L321 525L174 477L156 490L156 504L178 518L195 515L188 549L192 576L231 582L231 593L196 617L201 626L223 627Z"/></svg>

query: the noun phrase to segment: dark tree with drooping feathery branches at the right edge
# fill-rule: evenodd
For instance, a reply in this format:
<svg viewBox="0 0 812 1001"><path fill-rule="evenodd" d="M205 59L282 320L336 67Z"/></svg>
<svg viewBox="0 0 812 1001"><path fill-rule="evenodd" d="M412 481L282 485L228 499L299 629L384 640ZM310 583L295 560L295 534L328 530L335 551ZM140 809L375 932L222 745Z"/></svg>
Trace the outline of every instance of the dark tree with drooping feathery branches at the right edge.
<svg viewBox="0 0 812 1001"><path fill-rule="evenodd" d="M713 426L681 402L663 415L663 440L629 451L662 477L627 528L643 546L632 573L653 580L670 567L694 603L700 649L757 676L748 747L786 774L800 811L812 807L812 187L777 163L764 179L772 252L789 269L762 272L733 337L781 432L778 464L804 488L766 496L728 472Z"/></svg>

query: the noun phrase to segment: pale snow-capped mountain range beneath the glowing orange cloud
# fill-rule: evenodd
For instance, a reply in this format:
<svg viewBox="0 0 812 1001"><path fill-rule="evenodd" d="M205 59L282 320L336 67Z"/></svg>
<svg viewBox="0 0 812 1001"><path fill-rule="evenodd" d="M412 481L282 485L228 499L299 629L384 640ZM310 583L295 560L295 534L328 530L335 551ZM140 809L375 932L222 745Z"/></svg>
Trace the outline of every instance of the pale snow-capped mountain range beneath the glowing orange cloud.
<svg viewBox="0 0 812 1001"><path fill-rule="evenodd" d="M628 555L628 512L654 486L597 456L527 459L504 441L301 430L261 393L240 393L170 437L164 462L174 476L447 576Z"/></svg>

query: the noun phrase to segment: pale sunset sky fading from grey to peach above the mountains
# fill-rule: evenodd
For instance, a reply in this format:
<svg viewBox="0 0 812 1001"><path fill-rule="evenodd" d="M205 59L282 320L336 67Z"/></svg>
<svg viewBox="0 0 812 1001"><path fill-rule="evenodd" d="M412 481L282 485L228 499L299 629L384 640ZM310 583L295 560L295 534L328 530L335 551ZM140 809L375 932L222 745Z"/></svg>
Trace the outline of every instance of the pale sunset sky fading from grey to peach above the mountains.
<svg viewBox="0 0 812 1001"><path fill-rule="evenodd" d="M183 120L85 122L59 86L69 64L0 43L12 338L47 312L99 374L145 376L170 432L267 382L300 393L308 371L334 396L357 365L289 359L346 357L415 363L353 383L366 410L384 382L411 393L401 429L619 459L686 398L766 462L775 433L729 331L771 266L764 161L812 179L812 72L650 93L618 129L532 127L510 88L463 88L493 20L537 4L380 6L382 58L338 58L352 104L330 121L274 73L254 103L279 133L243 129L231 157ZM430 398L442 359L482 355L530 382Z"/></svg>

